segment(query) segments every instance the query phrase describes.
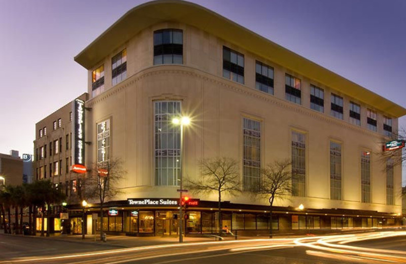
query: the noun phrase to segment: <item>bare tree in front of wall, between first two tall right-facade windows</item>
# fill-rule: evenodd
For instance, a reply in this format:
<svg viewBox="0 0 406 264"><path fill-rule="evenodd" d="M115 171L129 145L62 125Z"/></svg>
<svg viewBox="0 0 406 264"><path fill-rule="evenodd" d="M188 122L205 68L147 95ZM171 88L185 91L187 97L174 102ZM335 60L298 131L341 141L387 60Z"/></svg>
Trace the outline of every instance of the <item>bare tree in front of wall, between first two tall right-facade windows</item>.
<svg viewBox="0 0 406 264"><path fill-rule="evenodd" d="M272 211L275 199L284 199L292 192L292 171L290 160L275 161L261 169L261 184L258 194L266 196L269 201L269 238L272 238Z"/></svg>

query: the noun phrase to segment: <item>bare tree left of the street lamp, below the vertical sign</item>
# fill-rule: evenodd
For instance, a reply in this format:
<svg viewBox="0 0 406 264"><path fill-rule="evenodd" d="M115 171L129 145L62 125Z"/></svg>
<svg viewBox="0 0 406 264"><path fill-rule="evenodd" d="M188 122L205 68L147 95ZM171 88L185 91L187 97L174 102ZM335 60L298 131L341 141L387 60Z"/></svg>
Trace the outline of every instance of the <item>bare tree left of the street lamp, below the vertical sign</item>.
<svg viewBox="0 0 406 264"><path fill-rule="evenodd" d="M111 158L108 161L96 163L90 173L82 179L80 190L82 197L94 198L99 202L100 208L100 240L103 240L103 210L106 202L111 201L122 193L119 184L126 172L122 160Z"/></svg>

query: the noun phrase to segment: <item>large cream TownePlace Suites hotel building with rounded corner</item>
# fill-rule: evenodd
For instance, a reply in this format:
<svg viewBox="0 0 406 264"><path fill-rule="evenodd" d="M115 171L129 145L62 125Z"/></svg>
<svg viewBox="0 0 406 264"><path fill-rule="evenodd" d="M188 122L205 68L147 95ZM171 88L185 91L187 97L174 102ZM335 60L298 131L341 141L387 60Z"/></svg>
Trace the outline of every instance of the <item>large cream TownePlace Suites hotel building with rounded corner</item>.
<svg viewBox="0 0 406 264"><path fill-rule="evenodd" d="M181 1L143 4L75 61L88 70L83 164L115 157L127 172L123 193L108 203L114 213L103 216L109 232L175 233L181 163L193 179L199 160L216 156L239 161L244 192L223 199L223 226L232 230L269 228L267 199L248 191L260 184L260 168L285 158L293 192L276 201L277 232L400 223L401 168L385 170L379 153L406 109L219 14ZM180 128L171 119L184 115L191 125L180 161ZM44 120L52 127L59 111L51 116ZM39 134L47 126L40 123ZM37 137L36 155L67 135ZM37 171L46 177L45 168ZM187 209L186 232L216 232L217 196L192 197L199 201Z"/></svg>

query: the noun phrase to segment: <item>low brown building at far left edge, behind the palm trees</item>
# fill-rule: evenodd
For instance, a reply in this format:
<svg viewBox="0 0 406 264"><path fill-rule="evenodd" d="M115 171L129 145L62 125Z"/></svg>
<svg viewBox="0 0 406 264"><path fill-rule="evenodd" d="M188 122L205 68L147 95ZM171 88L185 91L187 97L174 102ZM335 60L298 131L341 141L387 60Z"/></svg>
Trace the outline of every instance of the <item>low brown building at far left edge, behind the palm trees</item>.
<svg viewBox="0 0 406 264"><path fill-rule="evenodd" d="M10 155L0 153L0 186L16 186L22 182L23 161L18 156L18 151L11 150Z"/></svg>

